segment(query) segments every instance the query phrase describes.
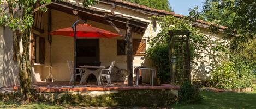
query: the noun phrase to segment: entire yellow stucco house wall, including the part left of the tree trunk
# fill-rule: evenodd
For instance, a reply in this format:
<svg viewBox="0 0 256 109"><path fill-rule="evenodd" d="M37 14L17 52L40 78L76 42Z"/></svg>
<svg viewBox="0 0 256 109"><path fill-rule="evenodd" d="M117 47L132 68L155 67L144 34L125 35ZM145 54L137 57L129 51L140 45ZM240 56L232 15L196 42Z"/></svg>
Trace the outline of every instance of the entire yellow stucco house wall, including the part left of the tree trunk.
<svg viewBox="0 0 256 109"><path fill-rule="evenodd" d="M99 3L94 8L102 9L105 11L111 11L112 7L110 5ZM152 29L151 20L148 17L151 17L150 15L142 14L137 11L129 10L126 8L116 7L114 10L115 14L122 14L124 16L130 16L133 18L140 19L141 21L149 22L150 25L148 25L146 31L144 34L136 34L133 33L133 39L146 39L147 44L146 48L149 47L148 41L154 36L157 35L158 31L161 29L159 25L157 24L157 30L154 31ZM33 33L39 34L41 37L45 37L45 63L44 65L33 65L34 72L40 75L40 78L42 81L46 78L46 76L49 74L49 69L45 66L49 65L49 55L50 55L50 49L49 49L49 43L47 43L47 13L44 13L43 15L43 26L45 33L41 34L37 31L32 30ZM59 28L65 28L70 27L76 20L78 20L78 17L65 14L60 11L52 10L52 30L56 30ZM158 21L157 21L158 22ZM109 30L112 32L116 31L110 26L105 25L97 22L93 22L88 20L88 24L91 24L94 27L102 28L105 30ZM201 31L206 35L211 35L214 37L222 37L223 34L219 35L213 35L209 32L209 30L206 30L204 28L200 28ZM126 33L125 30L121 29L123 33ZM0 27L0 87L1 86L13 86L19 84L19 68L17 67L17 63L13 61L13 37L12 31L10 31L8 28L2 28ZM109 66L110 62L112 60L116 61L116 65L120 69L127 69L127 57L126 56L117 56L117 39L122 38L114 38L114 39L100 39L100 61L102 62L102 66ZM67 67L66 60L74 60L74 41L71 37L64 37L64 36L52 36L52 46L51 46L51 57L52 57L52 65L56 66L53 68L53 76L55 76L56 81L69 81L70 79L70 73ZM22 50L22 49L21 49ZM199 66L196 66L195 69L206 67L203 65L200 66L201 62L204 60L210 61L209 59L205 58L199 61ZM146 66L151 67L151 62L148 59L142 59L141 56L136 56L133 59L133 66ZM193 78L207 78L210 74L204 73L204 70L195 70L192 69ZM34 80L35 74L32 74L32 78ZM149 78L148 78L149 79ZM34 80L35 81L35 80Z"/></svg>

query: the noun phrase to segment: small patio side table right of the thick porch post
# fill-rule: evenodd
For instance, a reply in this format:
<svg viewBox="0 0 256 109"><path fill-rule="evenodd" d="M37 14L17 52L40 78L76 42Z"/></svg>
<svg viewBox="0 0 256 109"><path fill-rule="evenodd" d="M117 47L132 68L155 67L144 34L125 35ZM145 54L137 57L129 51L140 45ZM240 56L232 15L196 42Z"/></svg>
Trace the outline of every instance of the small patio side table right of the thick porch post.
<svg viewBox="0 0 256 109"><path fill-rule="evenodd" d="M150 81L150 84L151 86L154 85L154 75L156 75L156 70L155 69L152 69L152 68L141 68L141 67L135 67L134 68L134 73L136 75L136 86L138 86L139 84L139 75L140 75L140 70L151 70L151 81Z"/></svg>

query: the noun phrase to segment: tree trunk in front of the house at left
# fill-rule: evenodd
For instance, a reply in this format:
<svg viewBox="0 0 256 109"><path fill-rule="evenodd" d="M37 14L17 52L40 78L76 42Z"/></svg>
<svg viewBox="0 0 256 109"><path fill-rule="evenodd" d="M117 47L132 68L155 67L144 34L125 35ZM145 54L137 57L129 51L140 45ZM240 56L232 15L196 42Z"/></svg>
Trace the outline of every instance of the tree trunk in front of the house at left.
<svg viewBox="0 0 256 109"><path fill-rule="evenodd" d="M20 34L20 31L14 32L14 50L19 66L20 76L20 92L22 100L30 101L31 94L31 65L29 61L29 45L30 45L30 29L25 30L25 33ZM22 39L22 40L21 40ZM23 52L20 52L20 41L22 41Z"/></svg>

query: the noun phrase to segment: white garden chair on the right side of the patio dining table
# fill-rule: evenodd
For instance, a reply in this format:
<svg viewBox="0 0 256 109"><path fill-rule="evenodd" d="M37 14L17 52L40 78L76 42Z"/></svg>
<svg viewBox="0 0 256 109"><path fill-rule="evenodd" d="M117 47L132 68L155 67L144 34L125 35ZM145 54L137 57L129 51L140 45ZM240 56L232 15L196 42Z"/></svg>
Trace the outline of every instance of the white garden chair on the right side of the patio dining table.
<svg viewBox="0 0 256 109"><path fill-rule="evenodd" d="M102 77L105 77L105 78L106 78L106 81L108 82L107 84L108 84L108 85L111 85L110 74L111 74L111 70L112 70L112 68L114 67L114 65L115 65L115 61L112 61L112 62L111 62L111 65L110 65L110 67L109 67L109 69L102 69L102 70L100 70L99 83L101 83L100 80L102 80ZM108 73L104 74L105 71L108 71Z"/></svg>

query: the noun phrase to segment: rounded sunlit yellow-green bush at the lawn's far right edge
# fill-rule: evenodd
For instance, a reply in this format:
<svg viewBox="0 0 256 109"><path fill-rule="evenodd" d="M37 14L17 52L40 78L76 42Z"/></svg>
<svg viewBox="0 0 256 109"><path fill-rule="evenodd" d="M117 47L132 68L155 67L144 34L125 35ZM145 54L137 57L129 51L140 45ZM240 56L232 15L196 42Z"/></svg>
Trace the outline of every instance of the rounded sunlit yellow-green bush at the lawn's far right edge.
<svg viewBox="0 0 256 109"><path fill-rule="evenodd" d="M241 57L231 57L231 61L223 61L211 73L212 85L216 88L246 88L253 86L252 69Z"/></svg>

